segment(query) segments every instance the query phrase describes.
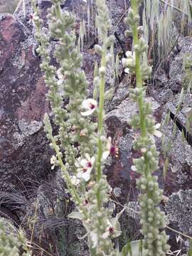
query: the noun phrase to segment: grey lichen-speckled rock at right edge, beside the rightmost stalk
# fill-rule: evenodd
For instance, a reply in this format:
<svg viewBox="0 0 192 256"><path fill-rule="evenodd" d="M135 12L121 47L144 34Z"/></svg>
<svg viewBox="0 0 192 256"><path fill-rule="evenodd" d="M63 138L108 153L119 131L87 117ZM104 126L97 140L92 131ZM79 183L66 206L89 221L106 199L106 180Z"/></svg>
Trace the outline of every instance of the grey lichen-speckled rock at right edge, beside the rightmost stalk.
<svg viewBox="0 0 192 256"><path fill-rule="evenodd" d="M181 131L178 130L172 120L169 124L165 124L166 113L169 111L176 114L179 120L186 127L186 117L188 106L191 105L191 99L189 95L183 97L183 104L180 111L177 111L178 102L181 100L180 95L174 97L166 103L164 114L162 115L162 132L163 148L169 157L169 168L166 174L165 192L167 195L178 192L180 189L191 189L191 171L192 171L192 159L191 159L191 146L182 137ZM188 113L188 112L187 112ZM175 128L174 128L175 127ZM175 129L175 132L174 132Z"/></svg>

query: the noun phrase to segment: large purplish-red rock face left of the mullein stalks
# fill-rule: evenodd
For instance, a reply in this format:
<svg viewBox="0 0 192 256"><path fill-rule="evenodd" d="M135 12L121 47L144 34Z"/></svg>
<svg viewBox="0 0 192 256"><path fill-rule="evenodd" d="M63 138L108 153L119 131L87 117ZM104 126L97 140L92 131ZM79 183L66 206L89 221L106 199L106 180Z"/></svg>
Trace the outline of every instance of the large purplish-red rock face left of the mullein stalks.
<svg viewBox="0 0 192 256"><path fill-rule="evenodd" d="M22 23L1 15L0 188L22 186L25 178L48 174L50 149L43 133L47 89ZM9 184L9 185L8 185Z"/></svg>

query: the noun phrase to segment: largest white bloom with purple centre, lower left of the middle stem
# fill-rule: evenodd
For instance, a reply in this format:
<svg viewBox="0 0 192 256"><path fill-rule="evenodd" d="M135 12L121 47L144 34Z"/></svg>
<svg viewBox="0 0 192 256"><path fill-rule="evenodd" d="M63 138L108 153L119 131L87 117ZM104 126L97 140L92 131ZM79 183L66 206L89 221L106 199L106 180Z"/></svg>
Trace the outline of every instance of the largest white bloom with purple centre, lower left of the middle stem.
<svg viewBox="0 0 192 256"><path fill-rule="evenodd" d="M75 163L75 166L78 167L77 177L89 181L94 163L95 156L90 157L89 154L85 154L85 159L81 159L79 162Z"/></svg>

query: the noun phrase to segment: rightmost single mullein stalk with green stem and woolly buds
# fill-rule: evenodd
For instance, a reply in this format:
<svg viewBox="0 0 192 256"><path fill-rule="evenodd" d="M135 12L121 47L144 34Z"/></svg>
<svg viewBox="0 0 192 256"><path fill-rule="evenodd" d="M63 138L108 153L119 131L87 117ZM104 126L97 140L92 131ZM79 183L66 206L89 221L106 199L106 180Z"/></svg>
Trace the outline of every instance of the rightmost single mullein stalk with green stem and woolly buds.
<svg viewBox="0 0 192 256"><path fill-rule="evenodd" d="M159 153L156 151L154 136L161 137L161 132L158 130L160 124L155 124L152 117L150 102L144 101L146 90L143 87L143 81L149 78L151 68L147 63L148 46L141 36L142 28L137 26L139 4L142 4L142 0L131 0L131 8L125 19L129 25L129 31L126 33L132 34L133 46L132 52L127 52L127 58L123 58L122 63L126 72L135 74L137 78L137 85L130 95L132 100L137 102L139 114L134 114L131 125L140 131L140 135L134 139L134 149L142 156L134 159L132 170L141 175L137 180L137 188L142 191L139 195L139 205L144 249L146 255L159 256L166 255L169 250L168 236L162 231L166 226L165 216L159 208L163 192L159 189L156 176L152 175L159 164Z"/></svg>

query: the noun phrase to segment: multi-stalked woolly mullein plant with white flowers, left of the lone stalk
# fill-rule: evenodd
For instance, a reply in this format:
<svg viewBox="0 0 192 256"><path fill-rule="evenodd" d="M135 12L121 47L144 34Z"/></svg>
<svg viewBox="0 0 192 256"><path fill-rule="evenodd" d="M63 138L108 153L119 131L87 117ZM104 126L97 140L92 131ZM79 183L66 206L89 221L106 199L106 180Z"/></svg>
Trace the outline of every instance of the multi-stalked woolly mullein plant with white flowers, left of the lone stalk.
<svg viewBox="0 0 192 256"><path fill-rule="evenodd" d="M38 41L37 53L42 58L41 70L48 86L48 100L53 113L53 122L58 127L58 134L53 135L53 128L48 114L45 115L45 131L55 155L50 159L52 169L58 166L68 187L68 192L75 203L76 210L70 218L82 221L85 227L91 255L117 256L112 239L121 234L118 213L112 218L113 210L107 208L110 201L110 185L103 174L107 156L116 150L111 138L105 137L103 129L105 96L105 75L107 64L111 60L110 47L113 36L108 36L111 21L104 0L96 0L97 32L100 45L95 51L101 56L100 66L95 72L94 84L99 88L97 100L86 95L87 83L81 69L82 55L75 47L73 33L75 18L68 11L63 11L63 0L52 0L48 10L49 34L42 33L42 20L35 0L33 6L33 25ZM59 68L50 63L49 41L55 38L54 57ZM64 103L67 102L67 103ZM90 118L97 117L97 122ZM123 210L122 210L123 211Z"/></svg>

